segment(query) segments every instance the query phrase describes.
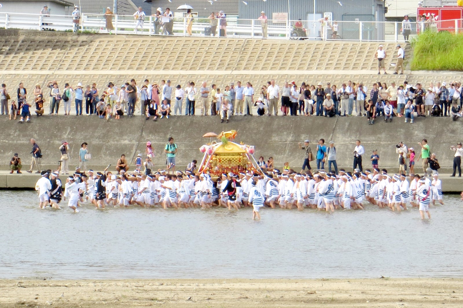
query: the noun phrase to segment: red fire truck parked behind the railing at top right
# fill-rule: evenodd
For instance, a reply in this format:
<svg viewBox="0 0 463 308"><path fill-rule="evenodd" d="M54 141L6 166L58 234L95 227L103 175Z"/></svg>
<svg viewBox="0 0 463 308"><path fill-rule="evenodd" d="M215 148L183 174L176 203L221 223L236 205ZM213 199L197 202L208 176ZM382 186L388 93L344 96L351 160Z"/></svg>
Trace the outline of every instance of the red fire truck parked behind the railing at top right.
<svg viewBox="0 0 463 308"><path fill-rule="evenodd" d="M455 1L455 2L454 2ZM457 6L456 0L425 0L424 5L418 8L418 15L426 18L433 16L437 23L438 31L461 32L463 6ZM452 5L453 4L453 5ZM455 20L457 19L457 22Z"/></svg>

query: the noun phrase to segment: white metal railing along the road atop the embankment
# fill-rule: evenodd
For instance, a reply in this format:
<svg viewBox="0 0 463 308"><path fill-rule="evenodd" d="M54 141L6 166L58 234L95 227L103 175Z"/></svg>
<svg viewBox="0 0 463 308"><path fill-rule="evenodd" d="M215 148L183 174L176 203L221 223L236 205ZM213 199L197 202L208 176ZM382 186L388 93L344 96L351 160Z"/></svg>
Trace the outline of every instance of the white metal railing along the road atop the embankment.
<svg viewBox="0 0 463 308"><path fill-rule="evenodd" d="M208 18L194 18L191 27L189 19L174 17L170 23L155 16L146 16L143 28L135 30L137 20L132 15L82 14L80 23L74 23L70 15L41 15L27 13L0 12L0 28L27 29L38 31L80 31L112 34L137 35L174 35L174 36L212 36L212 37L242 37L263 38L261 20L230 19L221 26L217 19L216 25L211 25ZM264 27L263 27L264 26ZM463 32L462 20L436 21L432 24L411 23L409 39L426 29ZM310 39L310 40L348 40L348 41L403 41L406 34L402 31L401 22L375 21L328 21L319 20L267 20L266 33L268 38L277 39Z"/></svg>

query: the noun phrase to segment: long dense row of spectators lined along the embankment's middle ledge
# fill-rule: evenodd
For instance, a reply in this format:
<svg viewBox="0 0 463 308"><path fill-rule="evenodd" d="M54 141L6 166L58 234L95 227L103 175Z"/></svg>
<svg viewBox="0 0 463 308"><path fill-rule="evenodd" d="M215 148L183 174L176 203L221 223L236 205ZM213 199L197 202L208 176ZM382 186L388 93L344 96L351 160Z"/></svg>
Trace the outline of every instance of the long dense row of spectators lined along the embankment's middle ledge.
<svg viewBox="0 0 463 308"><path fill-rule="evenodd" d="M83 86L77 83L71 86L58 85L50 81L44 88L36 84L32 93L28 93L23 83L12 90L2 84L0 89L1 113L10 115L10 119L20 117L19 122L29 122L30 108L35 114L58 114L60 106L64 115L69 116L72 109L75 115L98 115L100 118L120 119L132 117L135 110L146 119L181 115L220 116L221 121L229 121L231 116L324 116L348 117L363 116L373 124L376 117L384 117L386 122L393 117L404 117L405 122L413 123L414 117L462 117L462 86L459 81L430 83L429 85L409 85L407 81L397 85L394 81L387 85L377 82L371 85L352 82L332 85L327 82L309 84L302 82L297 86L294 81L278 86L270 80L260 88L250 82L240 81L227 85L212 84L206 81L196 86L194 81L186 86L172 85L170 80L161 80L159 84L144 80L138 85L135 80L116 86L109 82L98 88L94 83ZM13 96L13 98L12 98ZM196 102L198 101L198 104Z"/></svg>

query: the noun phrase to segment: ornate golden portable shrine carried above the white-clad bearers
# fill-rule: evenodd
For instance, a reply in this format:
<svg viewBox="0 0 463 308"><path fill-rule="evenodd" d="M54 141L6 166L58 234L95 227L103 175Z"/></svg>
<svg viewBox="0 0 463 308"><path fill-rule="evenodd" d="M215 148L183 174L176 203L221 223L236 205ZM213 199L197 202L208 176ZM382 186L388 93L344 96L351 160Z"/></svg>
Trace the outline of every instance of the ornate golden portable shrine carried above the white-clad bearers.
<svg viewBox="0 0 463 308"><path fill-rule="evenodd" d="M207 133L203 136L211 138L211 142L200 147L204 156L198 168L199 173L208 173L211 177L218 178L222 173L228 172L263 172L254 158L254 146L232 142L237 133L236 130L231 130L219 135ZM213 137L217 137L219 142L213 142Z"/></svg>

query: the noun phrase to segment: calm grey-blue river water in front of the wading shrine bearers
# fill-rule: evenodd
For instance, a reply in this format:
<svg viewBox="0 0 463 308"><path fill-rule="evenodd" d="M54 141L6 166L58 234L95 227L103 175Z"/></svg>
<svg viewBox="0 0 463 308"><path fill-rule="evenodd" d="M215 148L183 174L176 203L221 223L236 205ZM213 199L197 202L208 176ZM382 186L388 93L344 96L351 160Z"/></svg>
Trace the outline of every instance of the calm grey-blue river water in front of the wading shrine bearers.
<svg viewBox="0 0 463 308"><path fill-rule="evenodd" d="M0 278L462 277L463 201L417 209L38 209L0 191Z"/></svg>

